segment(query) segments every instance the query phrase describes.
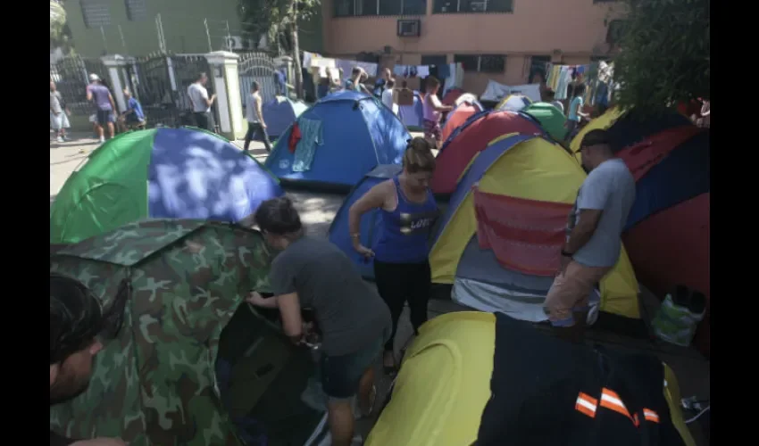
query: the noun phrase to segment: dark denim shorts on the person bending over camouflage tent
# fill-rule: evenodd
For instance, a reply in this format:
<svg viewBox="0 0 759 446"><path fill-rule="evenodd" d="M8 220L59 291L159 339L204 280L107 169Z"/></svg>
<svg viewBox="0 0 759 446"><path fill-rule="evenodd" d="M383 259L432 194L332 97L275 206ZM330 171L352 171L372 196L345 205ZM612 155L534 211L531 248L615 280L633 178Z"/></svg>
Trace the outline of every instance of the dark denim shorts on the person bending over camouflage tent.
<svg viewBox="0 0 759 446"><path fill-rule="evenodd" d="M362 350L346 355L321 355L321 388L330 400L349 399L358 392L363 372L380 357L385 339L386 334L382 334Z"/></svg>

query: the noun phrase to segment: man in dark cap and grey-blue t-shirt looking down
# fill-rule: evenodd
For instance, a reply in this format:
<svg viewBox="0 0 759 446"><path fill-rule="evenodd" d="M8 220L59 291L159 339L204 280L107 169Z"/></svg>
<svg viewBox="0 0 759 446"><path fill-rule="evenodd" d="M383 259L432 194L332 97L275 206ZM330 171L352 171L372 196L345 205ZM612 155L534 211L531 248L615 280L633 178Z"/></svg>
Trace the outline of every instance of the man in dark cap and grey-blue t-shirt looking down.
<svg viewBox="0 0 759 446"><path fill-rule="evenodd" d="M561 267L548 290L546 314L560 337L581 342L588 296L619 260L621 232L635 202L635 179L614 156L605 130L591 130L580 143L588 170L567 219Z"/></svg>

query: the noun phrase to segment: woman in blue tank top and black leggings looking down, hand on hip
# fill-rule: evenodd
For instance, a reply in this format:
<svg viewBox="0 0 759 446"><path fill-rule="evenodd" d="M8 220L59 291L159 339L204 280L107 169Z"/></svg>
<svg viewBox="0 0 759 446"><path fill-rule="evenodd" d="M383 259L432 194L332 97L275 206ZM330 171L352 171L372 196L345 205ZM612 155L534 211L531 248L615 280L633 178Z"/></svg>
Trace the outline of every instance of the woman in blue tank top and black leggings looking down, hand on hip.
<svg viewBox="0 0 759 446"><path fill-rule="evenodd" d="M393 346L405 302L414 333L427 321L431 287L429 239L438 217L438 204L429 186L434 170L432 145L424 138L413 138L404 154L403 172L372 187L348 214L354 249L374 257L377 289L393 318L393 335L385 344L382 359L388 374L396 369ZM359 240L361 217L372 209L380 209L382 215L380 240L373 251Z"/></svg>

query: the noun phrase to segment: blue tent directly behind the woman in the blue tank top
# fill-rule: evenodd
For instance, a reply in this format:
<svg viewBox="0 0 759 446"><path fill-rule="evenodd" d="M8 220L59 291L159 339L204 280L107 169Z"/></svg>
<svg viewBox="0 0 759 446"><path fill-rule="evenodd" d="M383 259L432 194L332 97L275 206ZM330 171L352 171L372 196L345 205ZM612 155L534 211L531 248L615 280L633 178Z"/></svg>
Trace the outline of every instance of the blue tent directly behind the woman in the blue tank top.
<svg viewBox="0 0 759 446"><path fill-rule="evenodd" d="M371 170L359 181L353 191L348 194L346 201L343 202L340 210L335 215L335 219L332 220L332 225L329 226L329 241L337 244L351 260L354 260L363 278L374 280L374 263L371 259L364 259L353 249L353 241L348 230L348 210L363 194L369 192L371 187L388 178L393 178L401 173L401 169L403 168L397 164L384 164ZM380 210L375 209L363 214L361 219L361 244L373 249L378 241L381 225Z"/></svg>

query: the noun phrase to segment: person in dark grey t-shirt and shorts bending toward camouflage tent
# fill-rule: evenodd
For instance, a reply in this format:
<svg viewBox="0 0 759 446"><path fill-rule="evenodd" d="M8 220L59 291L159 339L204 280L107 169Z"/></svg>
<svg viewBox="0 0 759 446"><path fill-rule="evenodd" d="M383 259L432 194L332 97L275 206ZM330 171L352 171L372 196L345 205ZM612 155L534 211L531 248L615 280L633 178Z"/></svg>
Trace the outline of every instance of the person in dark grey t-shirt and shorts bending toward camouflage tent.
<svg viewBox="0 0 759 446"><path fill-rule="evenodd" d="M338 246L304 235L300 217L287 197L261 203L255 222L268 244L283 250L271 263L273 298L252 292L247 301L279 308L285 334L304 339L302 308L311 308L321 329L321 386L329 401L334 446L347 446L354 434L351 400L358 393L364 416L377 396L374 359L391 330L390 312Z"/></svg>

